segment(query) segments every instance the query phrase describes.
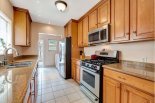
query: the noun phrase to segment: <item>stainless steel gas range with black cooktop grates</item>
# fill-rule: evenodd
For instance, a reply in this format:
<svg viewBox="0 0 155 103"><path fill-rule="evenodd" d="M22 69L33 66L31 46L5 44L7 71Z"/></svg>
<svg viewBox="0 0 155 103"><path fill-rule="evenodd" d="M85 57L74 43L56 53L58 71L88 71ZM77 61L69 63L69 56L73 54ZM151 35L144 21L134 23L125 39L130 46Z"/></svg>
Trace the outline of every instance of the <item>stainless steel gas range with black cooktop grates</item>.
<svg viewBox="0 0 155 103"><path fill-rule="evenodd" d="M118 51L96 51L98 60L81 61L81 90L94 103L102 103L103 68L102 65L119 62Z"/></svg>

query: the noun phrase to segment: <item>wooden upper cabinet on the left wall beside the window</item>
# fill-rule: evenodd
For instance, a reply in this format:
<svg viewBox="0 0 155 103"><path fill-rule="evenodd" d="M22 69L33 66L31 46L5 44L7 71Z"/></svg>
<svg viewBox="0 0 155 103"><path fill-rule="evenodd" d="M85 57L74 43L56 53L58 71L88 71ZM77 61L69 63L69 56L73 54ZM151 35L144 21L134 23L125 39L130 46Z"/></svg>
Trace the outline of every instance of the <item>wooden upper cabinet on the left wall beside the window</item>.
<svg viewBox="0 0 155 103"><path fill-rule="evenodd" d="M31 46L31 22L27 9L14 7L14 45Z"/></svg>

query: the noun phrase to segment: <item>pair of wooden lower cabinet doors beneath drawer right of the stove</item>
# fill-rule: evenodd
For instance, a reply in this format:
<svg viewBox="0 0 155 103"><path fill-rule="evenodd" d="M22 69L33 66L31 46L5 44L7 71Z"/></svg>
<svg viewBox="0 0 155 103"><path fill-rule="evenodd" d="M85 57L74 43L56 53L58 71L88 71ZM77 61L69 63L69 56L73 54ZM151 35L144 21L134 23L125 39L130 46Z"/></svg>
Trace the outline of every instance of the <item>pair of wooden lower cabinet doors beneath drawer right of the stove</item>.
<svg viewBox="0 0 155 103"><path fill-rule="evenodd" d="M154 103L150 94L108 77L103 78L103 103Z"/></svg>

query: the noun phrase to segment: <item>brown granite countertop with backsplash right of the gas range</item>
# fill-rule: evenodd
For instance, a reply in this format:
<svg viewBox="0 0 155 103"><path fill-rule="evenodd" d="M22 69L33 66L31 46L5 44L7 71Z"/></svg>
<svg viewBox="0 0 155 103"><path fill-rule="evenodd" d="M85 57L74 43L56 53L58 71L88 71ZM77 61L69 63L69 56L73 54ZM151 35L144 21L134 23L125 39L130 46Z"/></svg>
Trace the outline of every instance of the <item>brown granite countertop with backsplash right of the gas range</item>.
<svg viewBox="0 0 155 103"><path fill-rule="evenodd" d="M136 64L136 65L135 65ZM125 73L131 76L143 78L150 81L155 81L155 72L154 67L155 64L151 63L129 63L129 62L121 62L121 63L115 63L115 64L108 64L103 65L104 68L118 71L121 73Z"/></svg>

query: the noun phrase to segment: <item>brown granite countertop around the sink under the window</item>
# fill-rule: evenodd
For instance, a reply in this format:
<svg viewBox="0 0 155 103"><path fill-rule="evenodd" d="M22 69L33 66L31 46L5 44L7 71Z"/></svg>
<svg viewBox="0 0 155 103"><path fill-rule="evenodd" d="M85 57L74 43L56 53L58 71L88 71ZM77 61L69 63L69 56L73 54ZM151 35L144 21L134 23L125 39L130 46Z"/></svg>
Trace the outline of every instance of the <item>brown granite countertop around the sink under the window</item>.
<svg viewBox="0 0 155 103"><path fill-rule="evenodd" d="M0 103L23 103L38 57L15 62L32 61L29 67L0 68Z"/></svg>

